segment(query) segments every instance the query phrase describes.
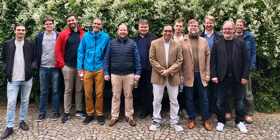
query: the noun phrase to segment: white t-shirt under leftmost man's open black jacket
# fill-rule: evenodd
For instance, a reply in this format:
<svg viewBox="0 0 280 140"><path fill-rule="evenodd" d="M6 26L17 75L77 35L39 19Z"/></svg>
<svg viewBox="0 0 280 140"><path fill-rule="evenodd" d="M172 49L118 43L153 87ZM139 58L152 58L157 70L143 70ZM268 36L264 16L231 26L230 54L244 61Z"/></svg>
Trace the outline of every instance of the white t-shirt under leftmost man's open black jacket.
<svg viewBox="0 0 280 140"><path fill-rule="evenodd" d="M16 41L16 52L14 57L14 66L12 73L12 81L25 81L25 65L23 58L23 41Z"/></svg>

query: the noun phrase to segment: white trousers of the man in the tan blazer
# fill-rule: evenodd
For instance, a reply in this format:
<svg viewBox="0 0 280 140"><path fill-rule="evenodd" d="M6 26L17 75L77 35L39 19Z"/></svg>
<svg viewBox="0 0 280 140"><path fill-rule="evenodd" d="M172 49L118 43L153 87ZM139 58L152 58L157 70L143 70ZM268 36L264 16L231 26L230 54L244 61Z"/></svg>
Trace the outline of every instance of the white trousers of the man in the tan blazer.
<svg viewBox="0 0 280 140"><path fill-rule="evenodd" d="M171 124L176 124L179 121L178 117L178 111L179 111L179 104L177 100L178 96L178 86L171 86L168 83L168 78L166 79L166 83L164 85L157 85L153 84L153 93L154 93L154 102L153 102L153 107L154 107L154 117L153 120L155 122L160 123L161 122L161 117L160 117L160 110L161 110L161 100L163 98L163 92L165 86L167 87L167 92L169 96L169 104L170 104L170 122Z"/></svg>

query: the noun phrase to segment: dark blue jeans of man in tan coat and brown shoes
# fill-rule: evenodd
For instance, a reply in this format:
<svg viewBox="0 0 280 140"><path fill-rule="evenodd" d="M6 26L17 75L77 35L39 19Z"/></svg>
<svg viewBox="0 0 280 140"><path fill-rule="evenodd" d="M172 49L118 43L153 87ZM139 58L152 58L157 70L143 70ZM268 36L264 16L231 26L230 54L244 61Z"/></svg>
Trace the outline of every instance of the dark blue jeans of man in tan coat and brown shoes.
<svg viewBox="0 0 280 140"><path fill-rule="evenodd" d="M193 104L193 92L195 89L195 85L198 88L199 93L199 100L200 100L200 111L201 111L201 118L202 121L208 121L209 114L208 114L208 87L204 87L200 73L194 73L194 81L192 87L184 87L186 91L186 110L190 120L195 121L195 106Z"/></svg>

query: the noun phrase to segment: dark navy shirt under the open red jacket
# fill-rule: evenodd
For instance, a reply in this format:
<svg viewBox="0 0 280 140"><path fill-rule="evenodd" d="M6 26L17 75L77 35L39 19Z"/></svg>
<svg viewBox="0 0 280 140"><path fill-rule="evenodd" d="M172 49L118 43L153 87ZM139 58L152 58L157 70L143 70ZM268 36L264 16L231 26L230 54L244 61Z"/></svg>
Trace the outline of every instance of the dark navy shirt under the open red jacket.
<svg viewBox="0 0 280 140"><path fill-rule="evenodd" d="M77 57L78 57L78 48L80 45L80 31L78 28L78 31L75 33L70 28L70 36L66 40L66 46L65 46L65 54L64 54L64 62L66 66L76 68L77 66Z"/></svg>

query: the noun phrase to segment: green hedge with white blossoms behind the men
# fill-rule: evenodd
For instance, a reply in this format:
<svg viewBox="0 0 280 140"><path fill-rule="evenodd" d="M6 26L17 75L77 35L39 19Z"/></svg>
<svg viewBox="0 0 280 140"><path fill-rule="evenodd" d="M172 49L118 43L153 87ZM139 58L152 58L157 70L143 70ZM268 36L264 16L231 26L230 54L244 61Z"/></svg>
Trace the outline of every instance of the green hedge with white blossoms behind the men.
<svg viewBox="0 0 280 140"><path fill-rule="evenodd" d="M14 24L25 24L26 38L34 41L38 31L43 30L44 17L51 16L55 29L61 31L66 29L65 17L71 12L78 16L78 25L85 31L95 17L101 17L103 29L111 39L117 37L117 27L121 23L128 26L129 38L136 36L141 19L147 19L150 31L161 36L163 24L172 24L177 18L183 19L185 25L188 20L197 19L202 31L204 17L212 15L216 18L214 28L220 32L223 21L245 18L247 30L255 36L257 47L257 64L252 72L255 109L269 113L280 109L279 0L1 0L0 12L0 50L5 40L14 37ZM1 94L6 90L4 75L0 72ZM39 93L36 74L31 97L37 102Z"/></svg>

